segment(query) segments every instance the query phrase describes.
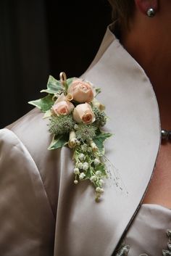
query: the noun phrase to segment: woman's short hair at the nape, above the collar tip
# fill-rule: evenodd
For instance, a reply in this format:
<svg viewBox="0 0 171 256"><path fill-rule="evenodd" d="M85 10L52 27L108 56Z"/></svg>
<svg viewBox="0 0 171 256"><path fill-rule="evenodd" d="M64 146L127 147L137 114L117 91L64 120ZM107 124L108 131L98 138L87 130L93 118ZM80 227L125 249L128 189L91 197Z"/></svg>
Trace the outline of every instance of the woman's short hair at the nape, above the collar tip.
<svg viewBox="0 0 171 256"><path fill-rule="evenodd" d="M128 28L130 16L134 11L134 0L108 0L112 6L112 20L117 28Z"/></svg>

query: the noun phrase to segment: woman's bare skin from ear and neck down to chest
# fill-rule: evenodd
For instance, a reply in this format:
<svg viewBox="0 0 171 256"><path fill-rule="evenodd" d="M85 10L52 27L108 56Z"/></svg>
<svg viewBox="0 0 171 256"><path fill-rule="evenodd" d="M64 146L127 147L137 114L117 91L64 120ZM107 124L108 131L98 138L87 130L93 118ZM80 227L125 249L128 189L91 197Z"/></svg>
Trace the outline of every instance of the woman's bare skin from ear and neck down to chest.
<svg viewBox="0 0 171 256"><path fill-rule="evenodd" d="M156 15L147 17L154 7ZM130 30L121 30L125 49L143 67L154 87L159 103L161 126L171 130L171 1L135 0ZM157 165L143 203L171 209L171 143L162 144Z"/></svg>

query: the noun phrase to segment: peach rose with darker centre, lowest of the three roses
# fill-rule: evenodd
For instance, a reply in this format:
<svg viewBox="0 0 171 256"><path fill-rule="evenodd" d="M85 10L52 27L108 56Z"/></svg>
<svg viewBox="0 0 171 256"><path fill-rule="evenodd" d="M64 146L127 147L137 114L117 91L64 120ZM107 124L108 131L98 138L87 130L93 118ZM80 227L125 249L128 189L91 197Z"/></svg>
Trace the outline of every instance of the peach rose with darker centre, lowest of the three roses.
<svg viewBox="0 0 171 256"><path fill-rule="evenodd" d="M87 125L95 121L93 110L88 103L77 105L73 112L73 118L77 123L85 123Z"/></svg>

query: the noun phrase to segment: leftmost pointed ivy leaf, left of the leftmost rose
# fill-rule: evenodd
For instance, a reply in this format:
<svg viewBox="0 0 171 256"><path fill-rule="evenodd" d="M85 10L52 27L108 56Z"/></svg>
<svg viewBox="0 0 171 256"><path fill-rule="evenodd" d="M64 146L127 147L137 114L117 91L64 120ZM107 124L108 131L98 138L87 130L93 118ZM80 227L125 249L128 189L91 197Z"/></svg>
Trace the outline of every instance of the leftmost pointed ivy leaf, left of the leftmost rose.
<svg viewBox="0 0 171 256"><path fill-rule="evenodd" d="M28 102L28 104L36 106L41 111L46 112L47 110L50 110L51 106L54 104L54 101L52 100L52 95L49 94L44 98L36 99L35 101Z"/></svg>

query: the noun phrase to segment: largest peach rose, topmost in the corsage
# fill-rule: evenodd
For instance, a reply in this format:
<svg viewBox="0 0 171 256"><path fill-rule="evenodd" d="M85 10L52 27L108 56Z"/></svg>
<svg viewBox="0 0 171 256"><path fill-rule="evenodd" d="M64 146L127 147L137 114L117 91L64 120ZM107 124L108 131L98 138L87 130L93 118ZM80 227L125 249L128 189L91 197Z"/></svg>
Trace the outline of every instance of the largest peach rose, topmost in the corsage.
<svg viewBox="0 0 171 256"><path fill-rule="evenodd" d="M73 96L76 102L91 102L93 100L93 87L91 83L81 79L75 79L70 84L67 93Z"/></svg>

